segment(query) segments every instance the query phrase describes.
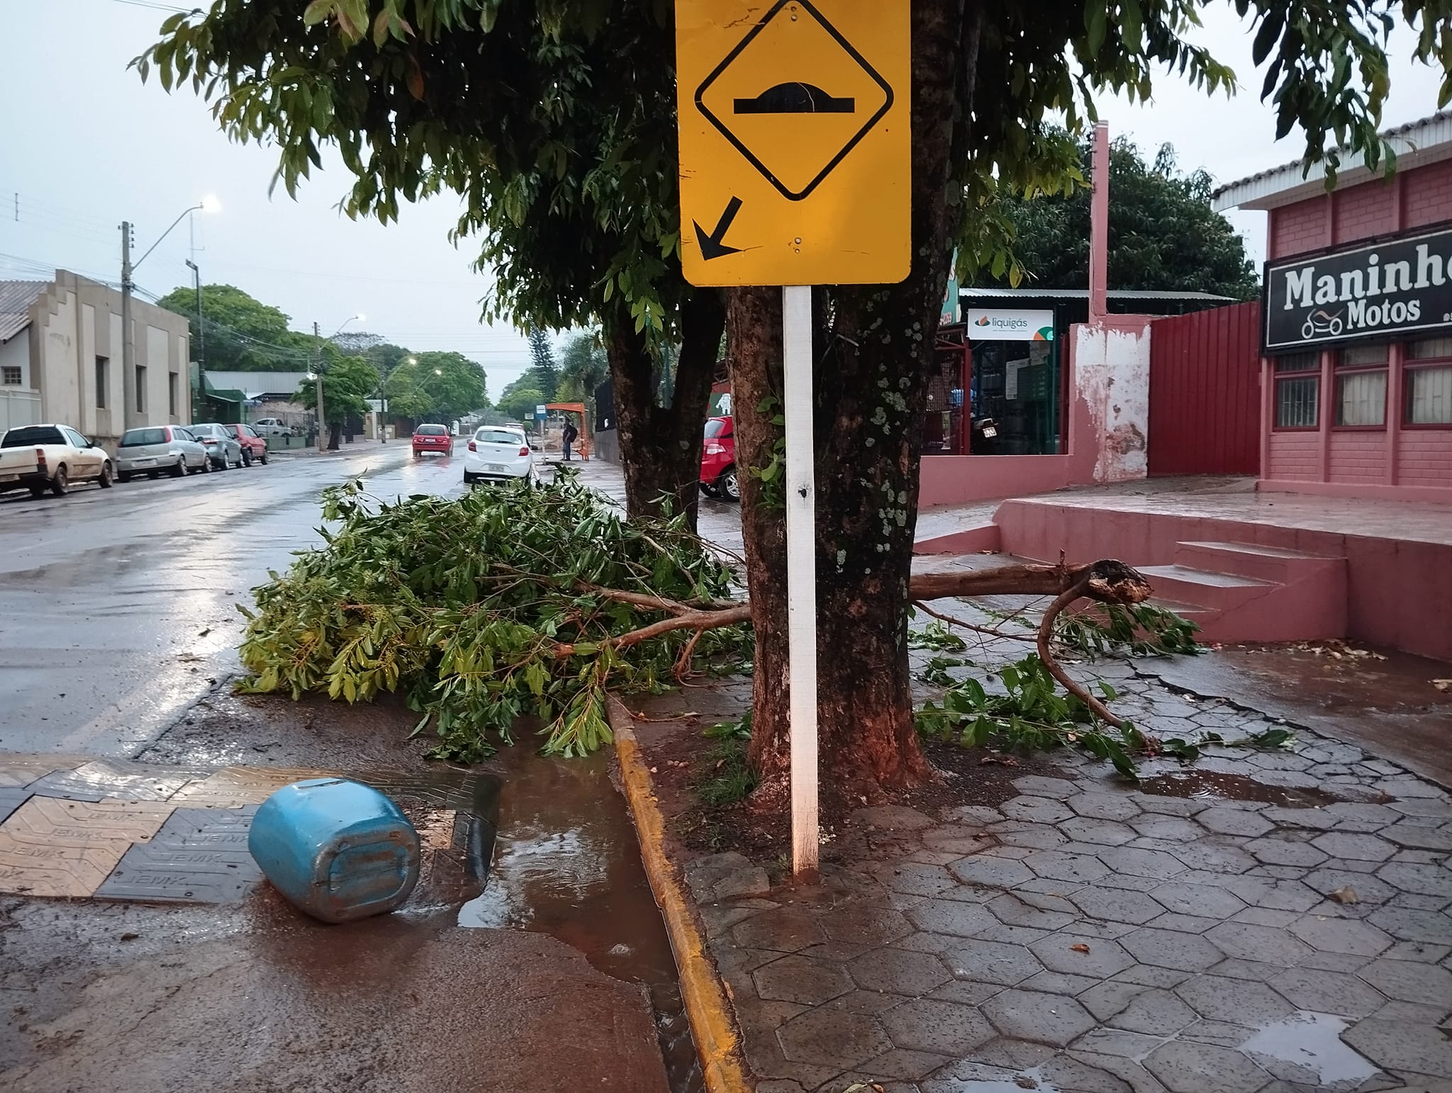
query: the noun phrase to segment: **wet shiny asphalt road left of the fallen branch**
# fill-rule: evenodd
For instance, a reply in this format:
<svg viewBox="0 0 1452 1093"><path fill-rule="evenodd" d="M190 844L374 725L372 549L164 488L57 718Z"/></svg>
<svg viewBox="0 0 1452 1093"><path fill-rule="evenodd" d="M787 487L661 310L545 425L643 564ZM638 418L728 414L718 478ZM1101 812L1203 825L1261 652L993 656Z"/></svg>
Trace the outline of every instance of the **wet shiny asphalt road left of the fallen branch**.
<svg viewBox="0 0 1452 1093"><path fill-rule="evenodd" d="M325 486L457 494L407 444L0 499L0 750L129 756L238 671L235 604L318 541Z"/></svg>

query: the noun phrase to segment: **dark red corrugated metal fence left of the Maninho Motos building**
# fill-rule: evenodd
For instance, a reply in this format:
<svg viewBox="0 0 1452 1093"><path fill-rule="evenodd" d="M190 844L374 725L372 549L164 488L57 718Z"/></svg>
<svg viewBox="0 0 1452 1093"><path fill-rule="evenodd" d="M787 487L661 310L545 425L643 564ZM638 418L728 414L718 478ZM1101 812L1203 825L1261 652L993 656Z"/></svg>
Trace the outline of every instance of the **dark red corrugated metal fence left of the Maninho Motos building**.
<svg viewBox="0 0 1452 1093"><path fill-rule="evenodd" d="M1156 319L1150 473L1260 472L1260 303Z"/></svg>

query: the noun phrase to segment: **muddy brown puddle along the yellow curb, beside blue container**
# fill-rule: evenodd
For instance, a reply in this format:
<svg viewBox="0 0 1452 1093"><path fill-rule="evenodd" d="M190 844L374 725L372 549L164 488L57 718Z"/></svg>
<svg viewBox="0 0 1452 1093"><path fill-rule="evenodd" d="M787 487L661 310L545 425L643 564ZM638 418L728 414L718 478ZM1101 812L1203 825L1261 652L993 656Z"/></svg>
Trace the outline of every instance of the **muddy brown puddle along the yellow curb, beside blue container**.
<svg viewBox="0 0 1452 1093"><path fill-rule="evenodd" d="M698 1093L675 958L608 758L546 759L520 746L501 761L510 769L492 864L459 925L547 933L607 975L643 984L672 1093Z"/></svg>

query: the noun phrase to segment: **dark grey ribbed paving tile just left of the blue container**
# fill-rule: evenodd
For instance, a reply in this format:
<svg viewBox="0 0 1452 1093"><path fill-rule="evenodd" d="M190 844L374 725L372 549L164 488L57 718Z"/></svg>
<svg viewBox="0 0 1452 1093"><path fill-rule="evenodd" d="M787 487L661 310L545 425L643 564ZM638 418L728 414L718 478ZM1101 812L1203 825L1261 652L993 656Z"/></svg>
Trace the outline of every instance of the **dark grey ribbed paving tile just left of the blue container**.
<svg viewBox="0 0 1452 1093"><path fill-rule="evenodd" d="M148 843L132 846L96 890L100 898L235 903L263 878L247 851L256 806L177 809Z"/></svg>

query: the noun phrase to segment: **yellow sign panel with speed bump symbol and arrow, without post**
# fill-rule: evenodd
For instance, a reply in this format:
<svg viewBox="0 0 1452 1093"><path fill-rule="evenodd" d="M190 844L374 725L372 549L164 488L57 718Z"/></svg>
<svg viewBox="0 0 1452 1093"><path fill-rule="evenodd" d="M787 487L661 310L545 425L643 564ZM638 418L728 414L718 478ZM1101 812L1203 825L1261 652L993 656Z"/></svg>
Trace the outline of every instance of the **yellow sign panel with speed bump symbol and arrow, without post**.
<svg viewBox="0 0 1452 1093"><path fill-rule="evenodd" d="M677 0L691 284L908 276L908 20L905 0Z"/></svg>

